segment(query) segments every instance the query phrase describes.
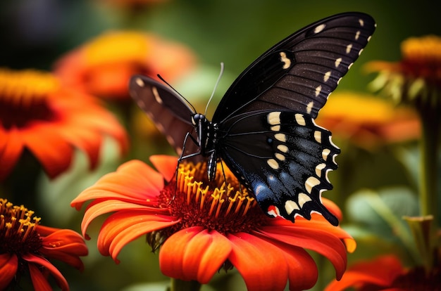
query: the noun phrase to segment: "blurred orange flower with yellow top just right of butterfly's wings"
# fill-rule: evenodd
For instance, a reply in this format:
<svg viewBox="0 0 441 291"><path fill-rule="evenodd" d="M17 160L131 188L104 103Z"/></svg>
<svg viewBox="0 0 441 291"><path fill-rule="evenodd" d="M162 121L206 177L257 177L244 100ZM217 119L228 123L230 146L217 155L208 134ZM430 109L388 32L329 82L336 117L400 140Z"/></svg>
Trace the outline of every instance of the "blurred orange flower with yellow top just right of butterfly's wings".
<svg viewBox="0 0 441 291"><path fill-rule="evenodd" d="M420 122L410 108L361 93L334 93L317 117L317 124L367 150L379 145L415 140Z"/></svg>

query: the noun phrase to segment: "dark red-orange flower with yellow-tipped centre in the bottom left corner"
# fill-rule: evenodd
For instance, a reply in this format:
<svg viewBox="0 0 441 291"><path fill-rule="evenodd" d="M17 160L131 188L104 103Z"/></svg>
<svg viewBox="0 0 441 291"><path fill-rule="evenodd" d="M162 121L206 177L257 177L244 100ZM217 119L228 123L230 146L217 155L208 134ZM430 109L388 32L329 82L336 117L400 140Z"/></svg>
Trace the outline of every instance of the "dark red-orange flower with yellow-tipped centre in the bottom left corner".
<svg viewBox="0 0 441 291"><path fill-rule="evenodd" d="M87 246L80 234L70 229L39 225L40 218L23 205L0 199L0 290L18 285L30 274L35 290L51 290L50 274L62 290L69 290L66 278L48 259L57 259L82 271L80 256Z"/></svg>

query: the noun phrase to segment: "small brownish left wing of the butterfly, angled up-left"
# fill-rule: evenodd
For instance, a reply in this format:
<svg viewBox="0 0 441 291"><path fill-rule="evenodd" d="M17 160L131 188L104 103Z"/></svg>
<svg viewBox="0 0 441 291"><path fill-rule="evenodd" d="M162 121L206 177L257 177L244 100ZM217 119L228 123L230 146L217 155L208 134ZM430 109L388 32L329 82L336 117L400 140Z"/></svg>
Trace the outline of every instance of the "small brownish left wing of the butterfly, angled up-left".
<svg viewBox="0 0 441 291"><path fill-rule="evenodd" d="M177 93L149 77L133 76L129 89L139 108L149 115L170 145L181 154L185 135L194 134L192 108ZM197 150L197 145L189 142L184 154L197 153Z"/></svg>

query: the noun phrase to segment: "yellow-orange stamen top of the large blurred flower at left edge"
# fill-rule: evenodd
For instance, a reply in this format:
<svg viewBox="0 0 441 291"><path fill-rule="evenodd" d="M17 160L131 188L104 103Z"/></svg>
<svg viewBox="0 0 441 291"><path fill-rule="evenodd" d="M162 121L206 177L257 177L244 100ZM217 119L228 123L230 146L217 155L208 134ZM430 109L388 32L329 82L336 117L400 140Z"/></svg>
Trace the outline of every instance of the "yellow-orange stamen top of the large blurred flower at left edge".
<svg viewBox="0 0 441 291"><path fill-rule="evenodd" d="M58 79L49 72L0 68L0 101L13 105L30 107L44 101L59 86Z"/></svg>

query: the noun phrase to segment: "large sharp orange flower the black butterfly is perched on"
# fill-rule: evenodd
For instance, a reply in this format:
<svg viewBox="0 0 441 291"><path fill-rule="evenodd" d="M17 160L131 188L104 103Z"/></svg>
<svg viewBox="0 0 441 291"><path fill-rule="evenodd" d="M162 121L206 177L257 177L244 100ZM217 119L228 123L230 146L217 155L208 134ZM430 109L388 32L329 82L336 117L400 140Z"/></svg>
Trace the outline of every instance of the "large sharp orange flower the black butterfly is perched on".
<svg viewBox="0 0 441 291"><path fill-rule="evenodd" d="M101 254L118 262L120 250L141 235L151 247L160 247L161 271L171 278L209 283L220 269L234 266L248 290L304 290L316 283L318 271L305 249L333 263L337 278L346 268L347 250L354 240L320 214L311 220L298 217L295 224L263 214L237 179L224 167L231 184L225 186L221 166L208 182L205 164L181 163L178 181L172 179L177 159L151 157L159 172L132 160L103 176L83 191L71 205L88 205L82 232L97 216L113 212L98 238ZM165 183L164 181L170 181ZM222 185L222 186L219 186ZM335 215L340 210L329 200L324 204Z"/></svg>

